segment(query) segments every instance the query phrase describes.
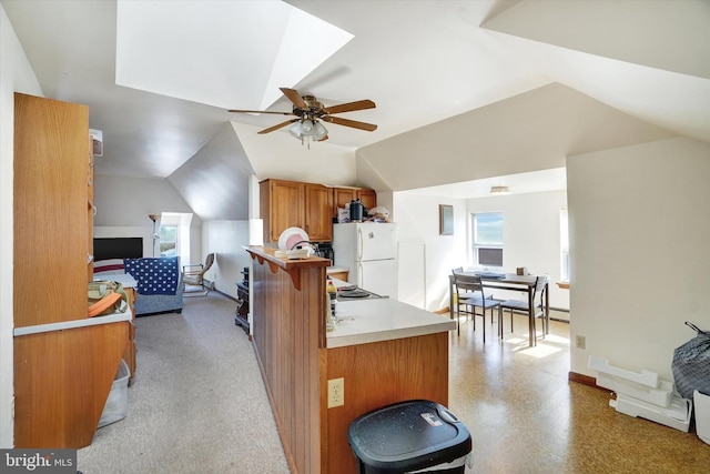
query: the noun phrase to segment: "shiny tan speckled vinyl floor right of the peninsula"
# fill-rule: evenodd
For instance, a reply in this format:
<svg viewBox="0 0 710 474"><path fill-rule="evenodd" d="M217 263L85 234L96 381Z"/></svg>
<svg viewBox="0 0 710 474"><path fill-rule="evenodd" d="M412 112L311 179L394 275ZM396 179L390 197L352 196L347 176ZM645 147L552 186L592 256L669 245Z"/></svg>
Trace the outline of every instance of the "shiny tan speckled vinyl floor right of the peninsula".
<svg viewBox="0 0 710 474"><path fill-rule="evenodd" d="M527 319L497 339L497 323L462 319L450 335L449 409L471 433L467 473L710 473L710 445L694 433L635 418L610 394L568 382L569 325L528 346ZM504 322L509 331L509 320Z"/></svg>

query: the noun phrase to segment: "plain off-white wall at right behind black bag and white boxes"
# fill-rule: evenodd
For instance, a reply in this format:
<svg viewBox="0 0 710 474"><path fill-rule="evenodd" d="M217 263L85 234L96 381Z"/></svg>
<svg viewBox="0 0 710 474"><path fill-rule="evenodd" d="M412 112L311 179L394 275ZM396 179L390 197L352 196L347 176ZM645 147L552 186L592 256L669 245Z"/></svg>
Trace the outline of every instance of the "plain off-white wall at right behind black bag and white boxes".
<svg viewBox="0 0 710 474"><path fill-rule="evenodd" d="M672 380L673 350L710 329L710 147L674 139L570 157L572 372L589 355Z"/></svg>

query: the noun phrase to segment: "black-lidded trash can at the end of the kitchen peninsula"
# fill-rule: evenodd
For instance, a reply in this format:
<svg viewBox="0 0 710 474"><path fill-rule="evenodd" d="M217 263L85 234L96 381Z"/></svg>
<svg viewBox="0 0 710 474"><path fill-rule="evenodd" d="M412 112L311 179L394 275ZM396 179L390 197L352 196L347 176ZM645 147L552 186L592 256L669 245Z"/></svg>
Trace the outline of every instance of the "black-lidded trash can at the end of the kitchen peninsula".
<svg viewBox="0 0 710 474"><path fill-rule="evenodd" d="M427 400L399 402L358 416L347 441L359 474L428 472L435 466L436 474L463 474L471 452L466 426L444 405Z"/></svg>

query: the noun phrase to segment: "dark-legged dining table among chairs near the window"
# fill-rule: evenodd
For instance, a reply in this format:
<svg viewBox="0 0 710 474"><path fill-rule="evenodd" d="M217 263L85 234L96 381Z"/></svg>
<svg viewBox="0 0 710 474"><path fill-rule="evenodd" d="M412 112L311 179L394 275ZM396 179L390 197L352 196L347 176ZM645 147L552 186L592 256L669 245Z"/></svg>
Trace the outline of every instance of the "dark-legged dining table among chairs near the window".
<svg viewBox="0 0 710 474"><path fill-rule="evenodd" d="M517 273L493 273L493 272L477 272L466 271L460 272L464 275L480 276L480 282L484 288L491 290L509 290L509 291L523 291L527 293L528 297L528 331L530 339L530 346L537 345L536 329L535 329L535 283L537 276L532 274L518 275ZM454 294L456 288L454 285L454 275L448 276L449 282L449 316L454 319ZM549 333L550 322L550 299L549 299L549 282L545 286L544 292L544 311L545 311L545 333Z"/></svg>

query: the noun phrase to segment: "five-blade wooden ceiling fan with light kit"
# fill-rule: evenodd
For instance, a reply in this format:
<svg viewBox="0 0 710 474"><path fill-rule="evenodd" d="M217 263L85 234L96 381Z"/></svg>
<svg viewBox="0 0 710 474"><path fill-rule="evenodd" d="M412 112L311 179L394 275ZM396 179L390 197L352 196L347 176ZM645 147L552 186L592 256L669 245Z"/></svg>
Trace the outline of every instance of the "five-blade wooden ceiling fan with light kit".
<svg viewBox="0 0 710 474"><path fill-rule="evenodd" d="M293 103L291 112L271 112L265 110L229 110L235 113L274 113L277 115L294 115L295 119L286 120L267 129L261 130L258 133L270 133L274 130L291 125L288 132L300 139L311 139L315 141L324 141L328 139L327 130L318 121L322 120L336 125L351 127L354 129L366 130L368 132L377 130L377 125L373 123L358 122L356 120L343 119L334 117L334 113L354 112L357 110L374 109L375 102L372 100L358 100L355 102L341 103L338 105L325 107L314 95L301 95L294 89L280 88L286 98Z"/></svg>

